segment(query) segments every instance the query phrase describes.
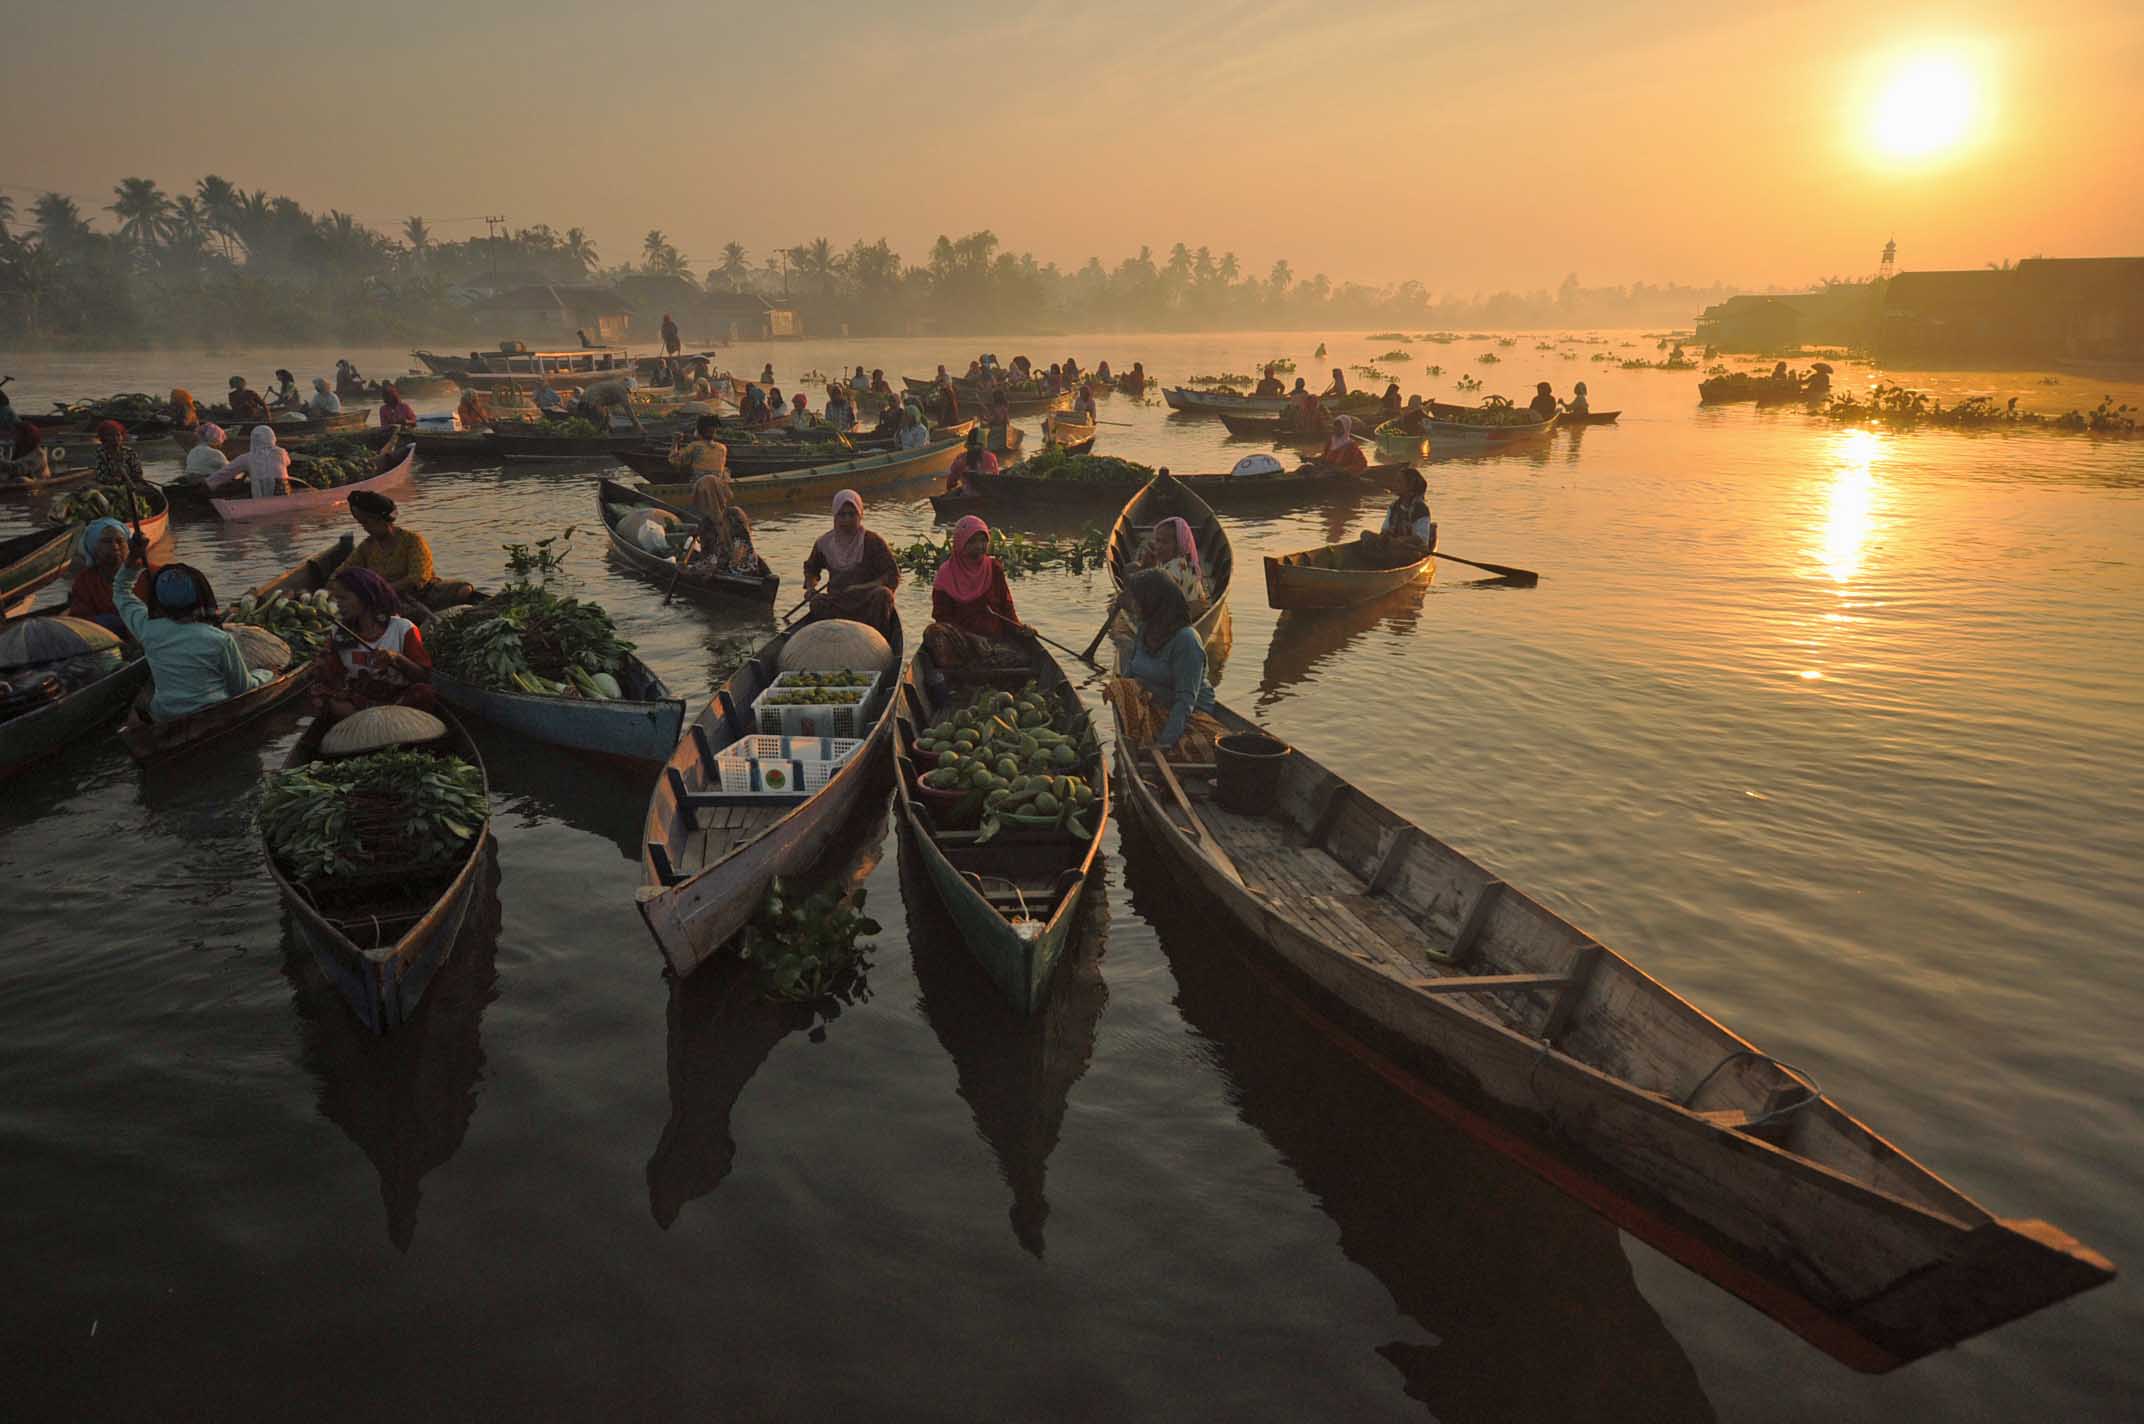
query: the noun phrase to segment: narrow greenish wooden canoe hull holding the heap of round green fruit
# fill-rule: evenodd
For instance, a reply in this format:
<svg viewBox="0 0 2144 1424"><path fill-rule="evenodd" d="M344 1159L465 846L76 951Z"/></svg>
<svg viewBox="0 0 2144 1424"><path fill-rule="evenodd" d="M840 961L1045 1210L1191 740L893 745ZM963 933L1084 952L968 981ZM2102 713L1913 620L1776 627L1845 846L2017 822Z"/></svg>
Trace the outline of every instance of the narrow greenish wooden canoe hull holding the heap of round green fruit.
<svg viewBox="0 0 2144 1424"><path fill-rule="evenodd" d="M943 703L928 691L933 671L937 669L930 654L918 650L900 680L894 815L911 836L939 903L961 929L961 941L1006 1002L1031 1014L1048 995L1072 920L1093 879L1093 858L1108 826L1108 768L1085 703L1040 641L1029 648L1027 667L946 669ZM1053 725L1085 742L1078 763L1066 770L1085 776L1093 787L1093 804L1085 811L1091 817L1091 834L1081 839L1055 828L1006 826L988 843L978 845L982 832L941 828L937 813L915 791L918 772L928 770L915 763L915 736L948 706L965 701L973 688L1018 691L1029 678L1053 693L1061 708L1072 708L1072 712L1059 710Z"/></svg>

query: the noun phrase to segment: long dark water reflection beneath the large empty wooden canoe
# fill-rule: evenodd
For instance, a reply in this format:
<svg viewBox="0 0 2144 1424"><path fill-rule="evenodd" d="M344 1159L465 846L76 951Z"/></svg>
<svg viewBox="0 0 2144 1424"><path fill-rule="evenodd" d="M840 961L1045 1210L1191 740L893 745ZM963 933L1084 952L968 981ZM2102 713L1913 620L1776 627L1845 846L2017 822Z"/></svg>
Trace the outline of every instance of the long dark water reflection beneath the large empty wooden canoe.
<svg viewBox="0 0 2144 1424"><path fill-rule="evenodd" d="M1136 819L1121 836L1132 909L1160 935L1177 1012L1211 1044L1237 1115L1331 1218L1349 1261L1434 1336L1379 1347L1411 1396L1439 1420L1717 1418L1614 1227L1321 1036L1156 873L1166 862Z"/></svg>

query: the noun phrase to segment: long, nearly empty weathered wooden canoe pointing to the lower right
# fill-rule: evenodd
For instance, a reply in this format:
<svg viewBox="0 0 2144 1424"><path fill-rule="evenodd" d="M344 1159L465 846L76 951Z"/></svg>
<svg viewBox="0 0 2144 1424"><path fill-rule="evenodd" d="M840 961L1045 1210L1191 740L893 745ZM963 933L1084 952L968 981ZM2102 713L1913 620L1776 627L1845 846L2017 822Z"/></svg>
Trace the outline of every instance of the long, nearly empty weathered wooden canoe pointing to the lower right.
<svg viewBox="0 0 2144 1424"><path fill-rule="evenodd" d="M1201 768L1179 802L1121 729L1115 755L1153 854L1331 1038L1837 1360L1887 1370L2114 1278L1301 751L1263 817Z"/></svg>

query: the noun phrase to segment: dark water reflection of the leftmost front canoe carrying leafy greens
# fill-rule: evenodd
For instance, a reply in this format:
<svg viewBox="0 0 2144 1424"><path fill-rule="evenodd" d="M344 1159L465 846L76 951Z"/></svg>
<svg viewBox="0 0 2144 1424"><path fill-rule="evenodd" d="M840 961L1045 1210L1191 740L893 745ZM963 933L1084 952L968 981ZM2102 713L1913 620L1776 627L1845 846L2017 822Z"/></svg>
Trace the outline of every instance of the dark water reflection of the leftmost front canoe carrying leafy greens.
<svg viewBox="0 0 2144 1424"><path fill-rule="evenodd" d="M379 1173L388 1240L416 1240L418 1184L444 1167L470 1130L485 1077L485 1006L497 997L500 860L485 856L476 901L416 1017L375 1034L349 1012L313 950L283 916L283 978L302 1025L307 1072L319 1079L319 1115L343 1130Z"/></svg>

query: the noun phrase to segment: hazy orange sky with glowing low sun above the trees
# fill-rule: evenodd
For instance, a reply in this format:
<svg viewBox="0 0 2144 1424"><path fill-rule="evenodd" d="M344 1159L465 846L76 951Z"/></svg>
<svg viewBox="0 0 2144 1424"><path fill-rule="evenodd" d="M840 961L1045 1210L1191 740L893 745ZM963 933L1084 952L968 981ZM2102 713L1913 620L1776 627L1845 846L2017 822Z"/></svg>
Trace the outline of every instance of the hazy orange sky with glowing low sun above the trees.
<svg viewBox="0 0 2144 1424"><path fill-rule="evenodd" d="M1893 232L1917 268L2144 253L2140 0L17 0L9 47L17 210L217 172L442 238L581 225L605 262L650 227L697 270L991 227L1068 268L1183 240L1432 292L1795 283ZM1880 152L1915 64L1964 94L1889 122L1962 131Z"/></svg>

